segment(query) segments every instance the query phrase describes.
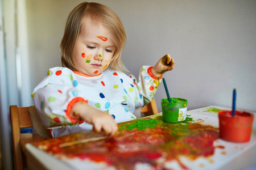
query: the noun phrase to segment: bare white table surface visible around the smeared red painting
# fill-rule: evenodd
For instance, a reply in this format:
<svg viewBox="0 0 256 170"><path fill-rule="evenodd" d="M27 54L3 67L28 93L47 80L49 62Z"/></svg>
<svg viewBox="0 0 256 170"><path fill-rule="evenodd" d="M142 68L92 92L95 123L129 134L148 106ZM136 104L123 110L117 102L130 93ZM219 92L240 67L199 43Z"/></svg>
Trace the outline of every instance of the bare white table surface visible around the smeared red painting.
<svg viewBox="0 0 256 170"><path fill-rule="evenodd" d="M204 120L204 122L201 122L201 124L213 125L218 127L218 114L216 112L207 112L209 108L229 109L217 106L210 106L187 111L187 114L191 114L193 120ZM217 152L223 150L218 150L216 148L216 154L214 154L211 158L213 162L216 162L216 164L208 164L205 162L204 159L197 159L192 162L193 167L202 162L205 166L200 167L199 169L256 169L256 114L254 113L253 134L251 135L250 142L232 143L218 139L214 143L216 145L228 146L224 149L226 155L217 154ZM56 168L64 170L73 169L61 160L47 154L42 150L39 150L39 148L36 148L31 144L26 145L26 156L28 160L28 167L31 170ZM189 165L191 165L191 163L189 163ZM198 167L196 169L198 169Z"/></svg>

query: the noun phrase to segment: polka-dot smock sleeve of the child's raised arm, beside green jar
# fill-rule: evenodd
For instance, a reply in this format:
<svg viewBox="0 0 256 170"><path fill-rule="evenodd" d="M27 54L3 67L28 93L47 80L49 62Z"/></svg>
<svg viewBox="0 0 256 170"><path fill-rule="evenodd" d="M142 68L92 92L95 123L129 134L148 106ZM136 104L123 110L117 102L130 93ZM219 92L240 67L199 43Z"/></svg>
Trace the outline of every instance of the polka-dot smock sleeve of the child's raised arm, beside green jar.
<svg viewBox="0 0 256 170"><path fill-rule="evenodd" d="M141 68L139 79L137 80L135 76L130 75L133 79L133 83L137 86L139 92L139 99L142 99L143 104L139 103L141 100L138 100L138 103L135 103L135 107L141 107L150 103L154 98L155 92L162 82L162 76L155 76L151 73L152 66L143 66Z"/></svg>

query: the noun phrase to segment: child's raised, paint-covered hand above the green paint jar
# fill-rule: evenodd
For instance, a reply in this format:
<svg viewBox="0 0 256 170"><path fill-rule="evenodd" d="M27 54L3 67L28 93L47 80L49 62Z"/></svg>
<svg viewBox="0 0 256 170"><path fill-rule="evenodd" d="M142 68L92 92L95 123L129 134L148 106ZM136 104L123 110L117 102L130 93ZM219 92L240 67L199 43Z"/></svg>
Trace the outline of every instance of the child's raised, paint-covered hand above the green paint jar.
<svg viewBox="0 0 256 170"><path fill-rule="evenodd" d="M174 65L174 59L171 58L170 54L166 54L152 67L151 72L155 76L161 76L166 71L174 69Z"/></svg>

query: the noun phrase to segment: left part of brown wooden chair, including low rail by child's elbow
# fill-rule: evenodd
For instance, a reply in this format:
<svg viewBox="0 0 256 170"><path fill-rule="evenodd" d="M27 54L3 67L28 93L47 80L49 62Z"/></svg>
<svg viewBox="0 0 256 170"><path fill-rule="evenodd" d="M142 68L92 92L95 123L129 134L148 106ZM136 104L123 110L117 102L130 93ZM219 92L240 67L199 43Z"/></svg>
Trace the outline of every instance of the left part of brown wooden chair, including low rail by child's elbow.
<svg viewBox="0 0 256 170"><path fill-rule="evenodd" d="M32 128L32 122L28 109L30 107L10 106L11 136L13 139L14 168L22 169L26 167L26 157L24 156L25 145L29 142L46 139L35 134L20 134L20 129Z"/></svg>

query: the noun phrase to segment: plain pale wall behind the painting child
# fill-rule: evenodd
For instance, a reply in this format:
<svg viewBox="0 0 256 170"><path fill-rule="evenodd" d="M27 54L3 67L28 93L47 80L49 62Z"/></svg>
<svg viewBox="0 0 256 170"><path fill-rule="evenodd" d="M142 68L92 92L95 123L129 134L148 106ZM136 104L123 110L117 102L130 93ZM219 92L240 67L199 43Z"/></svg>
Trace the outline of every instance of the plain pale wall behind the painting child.
<svg viewBox="0 0 256 170"><path fill-rule="evenodd" d="M68 13L82 1L27 0L32 88L49 67L60 66L59 45ZM175 69L164 74L171 97L188 99L188 109L231 107L256 112L256 2L94 1L112 8L127 33L122 61L138 76L164 54ZM155 96L166 97L163 84Z"/></svg>

